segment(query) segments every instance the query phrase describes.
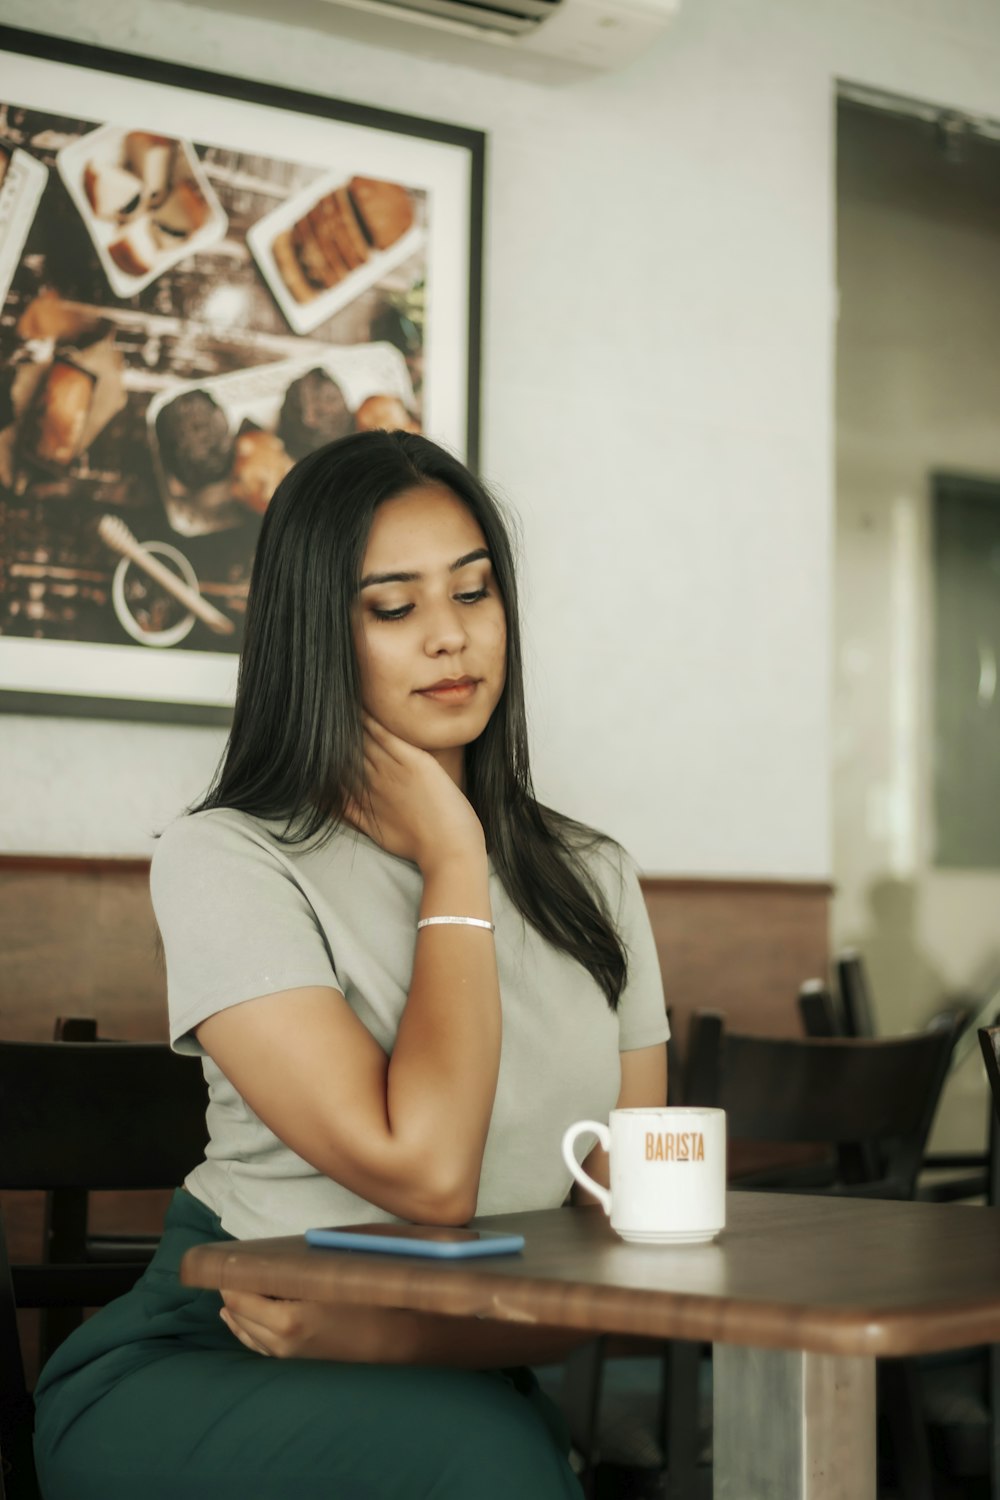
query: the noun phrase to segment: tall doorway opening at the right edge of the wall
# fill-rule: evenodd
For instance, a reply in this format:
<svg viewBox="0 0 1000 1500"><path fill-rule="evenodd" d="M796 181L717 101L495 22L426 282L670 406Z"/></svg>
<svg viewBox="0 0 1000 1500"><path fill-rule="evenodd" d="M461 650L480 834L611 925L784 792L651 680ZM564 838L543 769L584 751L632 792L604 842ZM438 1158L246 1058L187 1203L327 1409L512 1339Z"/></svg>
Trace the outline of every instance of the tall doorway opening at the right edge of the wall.
<svg viewBox="0 0 1000 1500"><path fill-rule="evenodd" d="M891 1034L1000 1008L1000 126L844 87L837 162L832 940Z"/></svg>

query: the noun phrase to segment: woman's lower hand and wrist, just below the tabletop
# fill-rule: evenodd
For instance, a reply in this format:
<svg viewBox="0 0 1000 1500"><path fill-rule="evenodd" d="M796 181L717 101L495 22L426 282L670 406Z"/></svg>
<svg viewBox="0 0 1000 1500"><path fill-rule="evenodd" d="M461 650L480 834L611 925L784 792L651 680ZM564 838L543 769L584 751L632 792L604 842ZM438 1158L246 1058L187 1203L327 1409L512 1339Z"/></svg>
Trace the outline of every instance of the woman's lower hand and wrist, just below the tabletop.
<svg viewBox="0 0 1000 1500"><path fill-rule="evenodd" d="M289 1302L256 1292L223 1292L220 1317L256 1354L274 1359L340 1359L382 1364L405 1312L325 1302Z"/></svg>

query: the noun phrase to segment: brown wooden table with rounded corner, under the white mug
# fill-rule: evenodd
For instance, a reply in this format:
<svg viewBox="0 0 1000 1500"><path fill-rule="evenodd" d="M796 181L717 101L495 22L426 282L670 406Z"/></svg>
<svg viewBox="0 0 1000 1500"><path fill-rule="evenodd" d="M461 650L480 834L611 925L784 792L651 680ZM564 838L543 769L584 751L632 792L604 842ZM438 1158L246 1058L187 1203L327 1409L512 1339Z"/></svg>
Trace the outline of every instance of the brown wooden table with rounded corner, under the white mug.
<svg viewBox="0 0 1000 1500"><path fill-rule="evenodd" d="M442 1264L198 1245L189 1286L715 1344L717 1500L874 1500L876 1358L1000 1341L1000 1210L730 1192L714 1245L625 1245L600 1209L477 1220L522 1256Z"/></svg>

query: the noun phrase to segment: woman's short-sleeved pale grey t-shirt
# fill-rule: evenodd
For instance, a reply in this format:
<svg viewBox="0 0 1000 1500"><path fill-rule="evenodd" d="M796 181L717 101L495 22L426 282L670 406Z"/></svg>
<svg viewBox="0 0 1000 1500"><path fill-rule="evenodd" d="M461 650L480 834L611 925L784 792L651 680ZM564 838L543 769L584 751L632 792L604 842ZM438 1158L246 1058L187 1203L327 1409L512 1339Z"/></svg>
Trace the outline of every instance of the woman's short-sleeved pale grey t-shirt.
<svg viewBox="0 0 1000 1500"><path fill-rule="evenodd" d="M636 872L613 844L588 861L628 951L618 1012L579 963L525 922L490 868L504 1042L478 1214L562 1203L570 1188L564 1130L579 1119L606 1120L619 1092L618 1053L669 1035ZM282 844L268 824L226 808L181 818L165 831L151 892L171 1041L202 1058L208 1082L210 1142L186 1188L237 1239L390 1220L289 1150L205 1056L193 1029L261 994L333 986L391 1053L417 940L417 866L352 830L319 848Z"/></svg>

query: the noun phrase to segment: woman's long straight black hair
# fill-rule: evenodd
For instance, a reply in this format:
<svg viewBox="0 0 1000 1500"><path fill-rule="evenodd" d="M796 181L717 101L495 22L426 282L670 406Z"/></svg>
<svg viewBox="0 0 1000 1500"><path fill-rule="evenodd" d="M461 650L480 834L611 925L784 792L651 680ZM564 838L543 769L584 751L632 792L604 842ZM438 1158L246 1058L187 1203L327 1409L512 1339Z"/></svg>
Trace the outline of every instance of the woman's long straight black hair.
<svg viewBox="0 0 1000 1500"><path fill-rule="evenodd" d="M277 486L253 561L229 741L192 812L235 807L285 820L283 838L328 837L361 780L361 687L351 610L378 506L450 489L483 530L507 615L507 678L466 747L466 796L510 900L583 964L616 1008L627 956L583 854L601 836L534 796L514 556L499 506L453 454L405 432L361 432L301 459Z"/></svg>

